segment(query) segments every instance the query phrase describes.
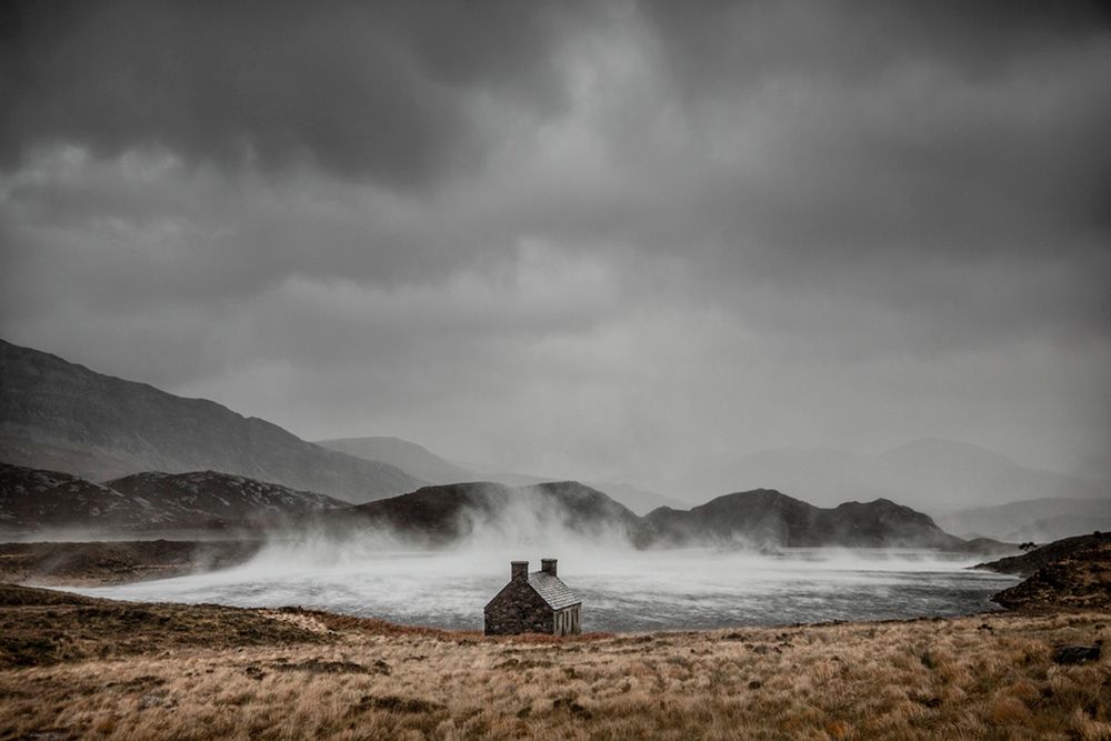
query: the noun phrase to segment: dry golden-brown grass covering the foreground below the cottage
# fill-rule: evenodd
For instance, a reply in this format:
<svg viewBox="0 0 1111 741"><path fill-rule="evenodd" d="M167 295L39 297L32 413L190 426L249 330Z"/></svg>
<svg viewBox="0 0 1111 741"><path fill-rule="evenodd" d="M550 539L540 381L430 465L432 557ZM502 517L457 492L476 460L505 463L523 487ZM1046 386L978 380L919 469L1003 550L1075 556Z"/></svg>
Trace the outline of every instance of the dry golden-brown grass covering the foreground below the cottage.
<svg viewBox="0 0 1111 741"><path fill-rule="evenodd" d="M1111 739L1111 662L1052 662L1108 613L558 640L233 612L316 640L9 668L0 738Z"/></svg>

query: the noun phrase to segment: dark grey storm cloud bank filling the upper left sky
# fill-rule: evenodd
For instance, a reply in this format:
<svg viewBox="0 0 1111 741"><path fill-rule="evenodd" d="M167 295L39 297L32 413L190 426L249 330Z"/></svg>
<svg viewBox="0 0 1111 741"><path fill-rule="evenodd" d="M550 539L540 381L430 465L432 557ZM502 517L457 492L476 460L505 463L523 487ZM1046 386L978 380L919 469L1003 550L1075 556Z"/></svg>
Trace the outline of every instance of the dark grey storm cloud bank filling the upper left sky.
<svg viewBox="0 0 1111 741"><path fill-rule="evenodd" d="M68 141L113 156L308 161L402 187L472 163L518 114L564 104L553 70L572 6L520 2L26 2L2 24L0 156Z"/></svg>

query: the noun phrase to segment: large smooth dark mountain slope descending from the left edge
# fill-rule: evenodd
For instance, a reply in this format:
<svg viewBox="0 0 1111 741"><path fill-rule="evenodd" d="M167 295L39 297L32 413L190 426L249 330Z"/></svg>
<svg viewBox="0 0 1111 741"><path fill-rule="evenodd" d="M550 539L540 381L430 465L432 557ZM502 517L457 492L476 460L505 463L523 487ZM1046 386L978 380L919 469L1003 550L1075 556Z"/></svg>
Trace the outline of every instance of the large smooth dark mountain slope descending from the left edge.
<svg viewBox="0 0 1111 741"><path fill-rule="evenodd" d="M103 481L213 470L366 502L423 481L277 424L0 340L0 460Z"/></svg>

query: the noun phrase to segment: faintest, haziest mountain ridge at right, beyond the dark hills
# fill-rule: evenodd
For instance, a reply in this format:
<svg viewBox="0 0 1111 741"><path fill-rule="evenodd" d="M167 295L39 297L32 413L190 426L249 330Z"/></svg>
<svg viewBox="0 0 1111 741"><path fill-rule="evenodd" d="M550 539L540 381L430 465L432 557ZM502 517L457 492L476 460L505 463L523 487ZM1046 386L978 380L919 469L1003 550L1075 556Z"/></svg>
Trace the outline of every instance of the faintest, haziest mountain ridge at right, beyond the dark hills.
<svg viewBox="0 0 1111 741"><path fill-rule="evenodd" d="M691 492L775 487L818 504L887 498L941 514L1043 498L1111 498L1111 483L1019 465L964 442L922 439L875 455L781 449L697 461Z"/></svg>

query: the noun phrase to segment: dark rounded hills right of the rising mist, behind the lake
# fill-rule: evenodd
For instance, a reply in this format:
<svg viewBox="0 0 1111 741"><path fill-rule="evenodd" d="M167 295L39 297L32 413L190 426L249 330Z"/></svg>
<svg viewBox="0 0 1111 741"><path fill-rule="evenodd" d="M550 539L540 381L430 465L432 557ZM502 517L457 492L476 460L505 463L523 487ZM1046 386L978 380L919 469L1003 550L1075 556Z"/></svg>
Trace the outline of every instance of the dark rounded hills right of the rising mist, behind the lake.
<svg viewBox="0 0 1111 741"><path fill-rule="evenodd" d="M641 545L737 544L755 548L938 548L963 541L929 515L885 499L814 507L772 489L718 497L687 511L660 508L644 518Z"/></svg>

